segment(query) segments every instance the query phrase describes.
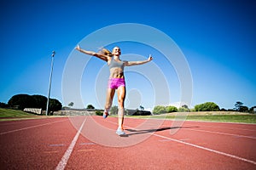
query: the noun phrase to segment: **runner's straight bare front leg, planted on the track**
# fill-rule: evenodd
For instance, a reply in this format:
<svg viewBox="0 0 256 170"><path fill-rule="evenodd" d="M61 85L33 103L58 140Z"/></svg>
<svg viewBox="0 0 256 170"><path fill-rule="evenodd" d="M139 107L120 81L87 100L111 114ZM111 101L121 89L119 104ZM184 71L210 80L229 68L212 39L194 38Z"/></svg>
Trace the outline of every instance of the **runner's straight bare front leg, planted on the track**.
<svg viewBox="0 0 256 170"><path fill-rule="evenodd" d="M123 128L124 124L124 113L125 113L125 94L126 89L124 86L118 88L118 102L119 102L119 127Z"/></svg>

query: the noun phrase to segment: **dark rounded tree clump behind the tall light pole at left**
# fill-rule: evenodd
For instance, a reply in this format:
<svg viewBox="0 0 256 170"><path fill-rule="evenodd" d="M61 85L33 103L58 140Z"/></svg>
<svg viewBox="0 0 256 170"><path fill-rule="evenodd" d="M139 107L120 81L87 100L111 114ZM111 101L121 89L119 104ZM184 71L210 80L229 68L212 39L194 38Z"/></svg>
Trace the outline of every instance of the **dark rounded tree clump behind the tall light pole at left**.
<svg viewBox="0 0 256 170"><path fill-rule="evenodd" d="M0 107L24 110L25 108L39 108L46 110L47 98L43 95L16 94L11 97L7 104L0 102ZM58 99L49 99L49 112L60 111L61 102Z"/></svg>

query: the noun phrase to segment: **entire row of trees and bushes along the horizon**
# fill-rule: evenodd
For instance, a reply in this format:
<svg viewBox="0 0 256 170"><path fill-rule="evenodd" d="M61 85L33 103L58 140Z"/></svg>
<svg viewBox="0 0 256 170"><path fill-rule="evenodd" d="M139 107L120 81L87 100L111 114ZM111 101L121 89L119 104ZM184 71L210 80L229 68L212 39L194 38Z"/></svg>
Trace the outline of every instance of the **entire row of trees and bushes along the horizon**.
<svg viewBox="0 0 256 170"><path fill-rule="evenodd" d="M43 95L28 95L28 94L16 94L11 97L8 101L8 104L0 102L0 108L12 108L24 110L24 108L40 108L43 111L46 110L47 98ZM68 106L73 106L73 102L71 102ZM140 106L141 109L143 106ZM243 105L241 101L237 101L235 104L235 108L225 110L220 109L219 106L213 102L206 102L203 104L195 105L193 109L189 109L188 105L182 105L177 108L176 106L168 105L156 105L154 106L153 113L154 114L162 114L162 113L170 113L170 112L189 112L189 111L239 111L239 112L248 112L254 113L254 108L256 106L251 107L250 109ZM62 109L61 102L58 99L49 99L49 112L60 111ZM95 109L93 105L87 105L87 109ZM112 108L113 112L117 112L118 108Z"/></svg>

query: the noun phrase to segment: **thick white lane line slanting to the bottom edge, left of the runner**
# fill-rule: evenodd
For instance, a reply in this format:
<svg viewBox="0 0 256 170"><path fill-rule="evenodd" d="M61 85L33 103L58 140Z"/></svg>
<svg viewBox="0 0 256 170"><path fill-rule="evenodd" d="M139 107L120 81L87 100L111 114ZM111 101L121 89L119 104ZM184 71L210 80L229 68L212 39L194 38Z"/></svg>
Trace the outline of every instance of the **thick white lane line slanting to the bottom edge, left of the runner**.
<svg viewBox="0 0 256 170"><path fill-rule="evenodd" d="M86 120L86 117L84 118L84 122ZM79 139L79 134L81 133L82 128L84 127L84 122L82 123L81 127L79 128L79 131L76 133L75 137L73 138L73 141L67 148L64 156L61 158L61 161L59 162L58 166L55 168L55 170L62 170L66 167L67 161L69 157L71 156L71 153L73 151L74 145L77 143L77 140Z"/></svg>

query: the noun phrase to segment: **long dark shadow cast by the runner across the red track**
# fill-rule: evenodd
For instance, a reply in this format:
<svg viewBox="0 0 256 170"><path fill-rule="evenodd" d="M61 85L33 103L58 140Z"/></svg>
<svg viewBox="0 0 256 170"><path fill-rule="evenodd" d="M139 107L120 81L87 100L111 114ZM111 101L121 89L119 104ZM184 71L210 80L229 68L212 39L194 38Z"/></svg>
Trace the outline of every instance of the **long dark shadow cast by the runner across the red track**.
<svg viewBox="0 0 256 170"><path fill-rule="evenodd" d="M126 134L125 137L135 135L135 134L154 133L154 132L160 132L160 131L171 130L176 128L197 128L197 127L160 127L160 128L151 128L151 129L145 129L145 130L125 129L131 132L129 134Z"/></svg>

